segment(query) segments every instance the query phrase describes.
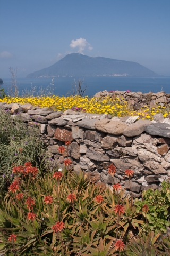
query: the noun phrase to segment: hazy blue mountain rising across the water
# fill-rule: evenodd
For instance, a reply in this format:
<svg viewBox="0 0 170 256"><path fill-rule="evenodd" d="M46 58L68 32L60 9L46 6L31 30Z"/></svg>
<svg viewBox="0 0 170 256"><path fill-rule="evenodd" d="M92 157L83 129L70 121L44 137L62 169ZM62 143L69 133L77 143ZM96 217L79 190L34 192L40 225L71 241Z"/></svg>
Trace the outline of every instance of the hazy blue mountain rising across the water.
<svg viewBox="0 0 170 256"><path fill-rule="evenodd" d="M94 58L79 53L71 53L48 68L30 73L26 78L53 76L158 76L158 74L137 62L104 57Z"/></svg>

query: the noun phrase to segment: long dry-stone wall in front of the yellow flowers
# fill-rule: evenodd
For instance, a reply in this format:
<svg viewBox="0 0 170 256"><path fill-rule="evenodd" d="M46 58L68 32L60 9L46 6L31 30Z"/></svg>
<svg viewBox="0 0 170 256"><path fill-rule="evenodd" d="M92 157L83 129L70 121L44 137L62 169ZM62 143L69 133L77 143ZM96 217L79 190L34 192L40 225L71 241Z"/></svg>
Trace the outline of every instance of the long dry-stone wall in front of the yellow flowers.
<svg viewBox="0 0 170 256"><path fill-rule="evenodd" d="M12 119L19 114L30 129L37 126L53 161L61 167L67 156L64 141L71 141L68 154L74 171L84 170L98 185L112 188L114 182L120 182L128 191L129 181L124 173L132 169L133 196L140 197L141 191L156 189L170 178L170 122L162 114L148 121L72 110L48 111L30 104L0 106L11 113ZM58 151L61 145L66 149L63 154ZM117 170L114 179L108 174L111 163Z"/></svg>

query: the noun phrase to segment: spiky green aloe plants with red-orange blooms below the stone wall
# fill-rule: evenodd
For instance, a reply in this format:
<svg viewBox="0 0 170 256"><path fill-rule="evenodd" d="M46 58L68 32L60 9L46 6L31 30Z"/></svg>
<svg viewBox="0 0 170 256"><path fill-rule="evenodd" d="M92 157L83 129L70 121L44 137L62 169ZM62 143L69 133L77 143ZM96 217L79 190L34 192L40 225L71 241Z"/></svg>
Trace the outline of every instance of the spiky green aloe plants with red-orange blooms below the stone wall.
<svg viewBox="0 0 170 256"><path fill-rule="evenodd" d="M163 183L163 192L147 191L159 205L164 202L160 214L158 205L152 214L155 201L147 201L146 193L143 202L132 205L124 190L103 190L69 166L62 172L54 167L39 178L33 170L30 162L13 168L15 179L1 195L0 250L5 255L169 255L169 237L160 235L167 224L169 183ZM163 220L160 229L149 215Z"/></svg>

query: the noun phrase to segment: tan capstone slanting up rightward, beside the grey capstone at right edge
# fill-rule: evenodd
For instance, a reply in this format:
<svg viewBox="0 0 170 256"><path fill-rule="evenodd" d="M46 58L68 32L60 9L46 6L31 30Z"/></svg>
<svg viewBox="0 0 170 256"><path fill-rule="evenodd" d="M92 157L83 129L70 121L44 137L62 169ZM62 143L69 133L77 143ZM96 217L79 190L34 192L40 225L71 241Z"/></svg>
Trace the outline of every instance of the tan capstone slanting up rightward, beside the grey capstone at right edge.
<svg viewBox="0 0 170 256"><path fill-rule="evenodd" d="M138 122L139 121L139 122ZM149 120L138 120L136 123L133 123L123 131L123 135L127 137L134 137L140 135L142 132L145 131L145 127L148 124L151 124Z"/></svg>

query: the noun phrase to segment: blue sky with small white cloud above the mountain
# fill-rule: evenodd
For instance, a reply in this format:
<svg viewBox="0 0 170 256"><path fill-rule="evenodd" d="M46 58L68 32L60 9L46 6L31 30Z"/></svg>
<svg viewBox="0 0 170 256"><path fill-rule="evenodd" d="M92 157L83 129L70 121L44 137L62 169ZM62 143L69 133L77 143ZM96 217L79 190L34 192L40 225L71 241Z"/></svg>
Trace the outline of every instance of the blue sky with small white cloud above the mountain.
<svg viewBox="0 0 170 256"><path fill-rule="evenodd" d="M65 55L135 61L170 76L169 0L0 0L0 78Z"/></svg>

